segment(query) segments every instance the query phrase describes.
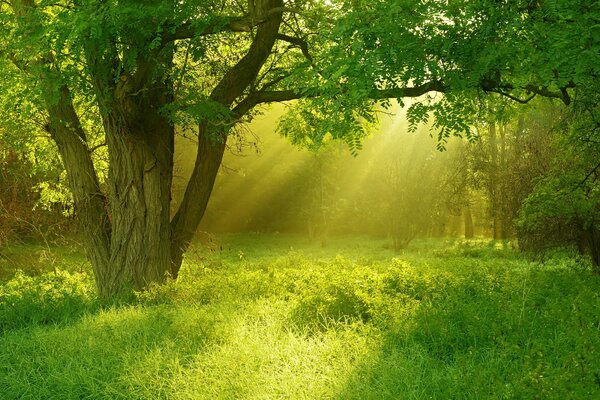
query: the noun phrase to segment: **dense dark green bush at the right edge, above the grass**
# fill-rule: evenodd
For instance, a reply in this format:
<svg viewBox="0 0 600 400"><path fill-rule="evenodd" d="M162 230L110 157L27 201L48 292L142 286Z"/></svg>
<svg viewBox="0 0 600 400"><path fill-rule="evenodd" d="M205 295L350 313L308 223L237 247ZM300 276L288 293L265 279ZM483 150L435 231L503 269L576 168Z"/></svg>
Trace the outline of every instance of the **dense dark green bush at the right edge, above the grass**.
<svg viewBox="0 0 600 400"><path fill-rule="evenodd" d="M600 148L596 106L589 107L576 107L562 132L554 135L552 146L560 152L525 200L519 222L526 247L575 244L589 251L598 268Z"/></svg>

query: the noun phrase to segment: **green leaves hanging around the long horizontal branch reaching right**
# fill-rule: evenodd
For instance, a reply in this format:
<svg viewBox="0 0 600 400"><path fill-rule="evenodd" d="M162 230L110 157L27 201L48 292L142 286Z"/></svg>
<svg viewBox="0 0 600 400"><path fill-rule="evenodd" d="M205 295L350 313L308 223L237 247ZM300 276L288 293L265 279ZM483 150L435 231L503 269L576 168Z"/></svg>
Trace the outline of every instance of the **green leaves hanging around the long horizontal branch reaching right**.
<svg viewBox="0 0 600 400"><path fill-rule="evenodd" d="M489 93L520 102L535 95L570 102L568 89L594 85L599 72L600 9L594 2L342 3L348 11L320 39L335 43L322 46L327 63L319 70L318 83L334 100L307 100L319 110L316 115L349 115L360 109L362 119L369 121L366 110L390 105L374 95L376 90L387 90L404 104L409 92L397 88L440 83L437 91L444 95L428 94L407 105L413 128L433 117L443 148L452 134L474 134L470 127L487 108L482 103L502 103ZM336 118L325 119L322 126L314 115L297 112L293 124L284 125L286 132L297 126L318 139L332 131L327 124ZM302 118L304 124L298 122ZM355 128L342 130L351 143L359 137Z"/></svg>

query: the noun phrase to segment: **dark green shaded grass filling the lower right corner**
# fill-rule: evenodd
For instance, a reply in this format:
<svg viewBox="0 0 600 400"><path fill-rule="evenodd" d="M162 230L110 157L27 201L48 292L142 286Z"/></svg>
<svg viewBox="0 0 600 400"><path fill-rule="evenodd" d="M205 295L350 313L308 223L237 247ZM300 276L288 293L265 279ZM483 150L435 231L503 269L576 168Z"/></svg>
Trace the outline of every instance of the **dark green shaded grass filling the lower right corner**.
<svg viewBox="0 0 600 400"><path fill-rule="evenodd" d="M337 398L600 398L600 279L513 273L467 274L384 329Z"/></svg>

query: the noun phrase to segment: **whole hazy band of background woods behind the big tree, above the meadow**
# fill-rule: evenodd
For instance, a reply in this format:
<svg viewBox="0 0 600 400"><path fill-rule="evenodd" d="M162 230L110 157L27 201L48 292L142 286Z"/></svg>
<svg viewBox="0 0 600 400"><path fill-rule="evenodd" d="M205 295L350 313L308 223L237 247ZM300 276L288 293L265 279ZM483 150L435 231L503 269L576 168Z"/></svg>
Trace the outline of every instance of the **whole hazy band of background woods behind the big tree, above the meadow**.
<svg viewBox="0 0 600 400"><path fill-rule="evenodd" d="M335 141L319 152L297 149L274 132L277 112L268 113L251 127L260 136L247 132L230 145L200 229L299 233L323 245L331 235L368 234L394 248L418 236L483 236L517 239L527 250L573 245L597 264L600 151L586 113L550 103L490 106L470 140L441 144L428 126L409 132L403 115L382 115L358 155ZM192 147L178 140L175 199ZM51 153L40 162L32 159L39 148L4 143L4 240L73 228Z"/></svg>

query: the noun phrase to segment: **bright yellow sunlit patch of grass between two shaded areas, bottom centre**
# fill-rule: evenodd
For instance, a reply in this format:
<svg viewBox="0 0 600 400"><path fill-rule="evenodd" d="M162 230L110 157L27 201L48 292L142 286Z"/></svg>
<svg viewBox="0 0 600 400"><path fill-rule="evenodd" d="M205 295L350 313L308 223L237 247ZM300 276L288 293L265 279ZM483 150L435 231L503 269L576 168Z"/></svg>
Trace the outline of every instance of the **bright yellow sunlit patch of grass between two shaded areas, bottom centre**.
<svg viewBox="0 0 600 400"><path fill-rule="evenodd" d="M175 380L175 398L332 398L377 338L357 327L299 334L286 328L285 310L259 302L230 341L196 357Z"/></svg>

